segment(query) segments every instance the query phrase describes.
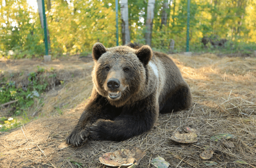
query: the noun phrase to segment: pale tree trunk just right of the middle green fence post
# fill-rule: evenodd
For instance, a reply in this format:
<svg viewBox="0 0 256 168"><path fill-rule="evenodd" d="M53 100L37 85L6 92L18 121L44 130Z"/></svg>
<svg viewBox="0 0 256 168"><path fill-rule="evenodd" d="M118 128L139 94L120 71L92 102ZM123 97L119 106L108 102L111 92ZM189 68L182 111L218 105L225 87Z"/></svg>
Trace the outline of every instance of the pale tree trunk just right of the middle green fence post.
<svg viewBox="0 0 256 168"><path fill-rule="evenodd" d="M128 22L128 0L121 0L121 19L122 19L122 41L123 45L130 42L130 31Z"/></svg>

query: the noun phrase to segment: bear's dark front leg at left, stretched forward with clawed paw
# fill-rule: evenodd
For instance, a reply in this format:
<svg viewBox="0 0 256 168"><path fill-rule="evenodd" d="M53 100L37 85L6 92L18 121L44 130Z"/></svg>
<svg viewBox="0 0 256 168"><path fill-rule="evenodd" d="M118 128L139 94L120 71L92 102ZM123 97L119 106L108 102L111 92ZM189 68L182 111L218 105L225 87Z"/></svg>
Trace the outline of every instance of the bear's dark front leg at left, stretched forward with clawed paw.
<svg viewBox="0 0 256 168"><path fill-rule="evenodd" d="M106 102L106 98L102 97L93 89L90 102L82 113L78 124L66 138L67 144L78 146L81 142L88 139L90 126L98 119L113 120L119 116L121 109L114 108Z"/></svg>

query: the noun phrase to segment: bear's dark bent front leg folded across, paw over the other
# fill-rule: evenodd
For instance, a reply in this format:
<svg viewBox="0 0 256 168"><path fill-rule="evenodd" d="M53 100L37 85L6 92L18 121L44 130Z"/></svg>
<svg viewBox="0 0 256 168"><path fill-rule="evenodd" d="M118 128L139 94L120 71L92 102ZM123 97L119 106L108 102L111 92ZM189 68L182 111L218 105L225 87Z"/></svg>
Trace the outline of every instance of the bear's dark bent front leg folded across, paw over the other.
<svg viewBox="0 0 256 168"><path fill-rule="evenodd" d="M154 95L132 106L123 107L120 116L111 120L98 120L90 127L94 140L123 141L150 130L158 117L159 105Z"/></svg>

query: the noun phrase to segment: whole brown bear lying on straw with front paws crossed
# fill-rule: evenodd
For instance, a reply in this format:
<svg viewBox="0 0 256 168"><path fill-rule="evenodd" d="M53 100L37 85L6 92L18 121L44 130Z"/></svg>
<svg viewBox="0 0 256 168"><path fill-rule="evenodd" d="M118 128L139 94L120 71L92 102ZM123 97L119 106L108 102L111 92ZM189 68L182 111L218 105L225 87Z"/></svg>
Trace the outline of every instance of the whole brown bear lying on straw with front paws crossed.
<svg viewBox="0 0 256 168"><path fill-rule="evenodd" d="M191 92L175 63L147 45L92 48L90 101L67 137L78 146L88 137L123 141L150 130L159 113L188 108Z"/></svg>

